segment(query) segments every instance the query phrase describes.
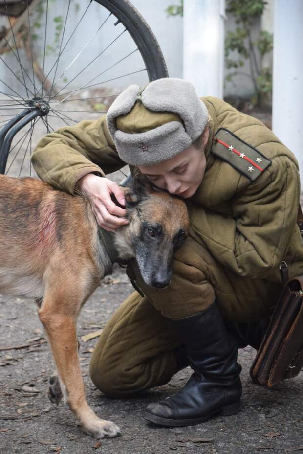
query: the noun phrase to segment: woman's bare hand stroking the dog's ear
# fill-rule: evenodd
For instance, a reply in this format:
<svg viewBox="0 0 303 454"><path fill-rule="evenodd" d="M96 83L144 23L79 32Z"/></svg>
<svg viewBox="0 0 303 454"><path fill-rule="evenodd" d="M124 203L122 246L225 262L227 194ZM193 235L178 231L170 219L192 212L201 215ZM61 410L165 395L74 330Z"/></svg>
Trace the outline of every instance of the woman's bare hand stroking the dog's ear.
<svg viewBox="0 0 303 454"><path fill-rule="evenodd" d="M110 194L113 194L119 204L125 206L124 191L117 183L89 173L78 180L77 187L89 200L100 227L114 232L118 227L129 223L123 217L126 210L114 204L110 198Z"/></svg>

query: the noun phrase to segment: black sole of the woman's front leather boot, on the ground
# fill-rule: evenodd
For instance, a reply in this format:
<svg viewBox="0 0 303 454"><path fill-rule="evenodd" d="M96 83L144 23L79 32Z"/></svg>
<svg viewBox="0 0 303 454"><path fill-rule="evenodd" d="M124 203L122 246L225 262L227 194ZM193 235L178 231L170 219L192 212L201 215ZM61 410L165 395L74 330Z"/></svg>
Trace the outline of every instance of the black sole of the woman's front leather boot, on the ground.
<svg viewBox="0 0 303 454"><path fill-rule="evenodd" d="M195 424L200 424L211 416L216 414L220 414L222 416L231 416L236 414L241 409L240 401L236 402L235 404L226 405L222 409L216 410L213 413L208 414L207 416L203 416L201 418L195 419L169 419L169 418L162 418L161 416L156 416L155 414L148 413L147 411L144 413L144 419L147 421L151 421L152 423L159 424L161 426L171 426L171 427L181 427L181 426L195 426Z"/></svg>

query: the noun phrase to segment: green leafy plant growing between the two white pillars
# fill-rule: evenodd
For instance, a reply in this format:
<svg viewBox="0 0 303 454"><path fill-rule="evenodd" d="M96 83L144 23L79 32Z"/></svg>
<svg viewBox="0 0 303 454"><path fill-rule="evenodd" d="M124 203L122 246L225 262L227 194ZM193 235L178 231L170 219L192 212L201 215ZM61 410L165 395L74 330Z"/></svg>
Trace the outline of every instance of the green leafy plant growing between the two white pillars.
<svg viewBox="0 0 303 454"><path fill-rule="evenodd" d="M234 15L238 25L235 31L227 33L225 39L226 67L236 69L227 74L226 80L232 81L236 75L249 77L254 89L251 101L255 105L259 105L264 98L269 98L272 91L271 69L262 68L262 58L272 51L273 36L267 31L260 31L256 41L251 36L251 27L260 19L266 4L263 0L226 0L226 10ZM231 58L231 52L236 52L235 58ZM245 61L249 63L249 73L238 71Z"/></svg>

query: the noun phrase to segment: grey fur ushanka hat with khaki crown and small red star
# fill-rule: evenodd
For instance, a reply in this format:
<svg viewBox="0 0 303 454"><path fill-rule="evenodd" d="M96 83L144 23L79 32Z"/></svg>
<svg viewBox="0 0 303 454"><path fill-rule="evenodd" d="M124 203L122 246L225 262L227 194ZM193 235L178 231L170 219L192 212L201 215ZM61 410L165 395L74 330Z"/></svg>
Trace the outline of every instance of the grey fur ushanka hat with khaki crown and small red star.
<svg viewBox="0 0 303 454"><path fill-rule="evenodd" d="M208 117L190 82L165 78L122 91L108 109L107 124L124 162L150 165L188 148Z"/></svg>

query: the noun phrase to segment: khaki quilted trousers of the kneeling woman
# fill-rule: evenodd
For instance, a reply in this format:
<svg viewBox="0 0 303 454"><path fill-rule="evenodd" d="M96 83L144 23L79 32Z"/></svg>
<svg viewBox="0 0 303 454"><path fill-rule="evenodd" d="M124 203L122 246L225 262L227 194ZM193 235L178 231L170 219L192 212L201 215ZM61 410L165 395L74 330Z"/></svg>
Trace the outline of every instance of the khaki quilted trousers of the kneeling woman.
<svg viewBox="0 0 303 454"><path fill-rule="evenodd" d="M269 315L281 286L242 278L223 269L211 254L188 238L173 260L173 279L165 290L147 287L133 271L145 297L137 292L119 307L94 349L90 375L111 396L163 385L176 372L180 341L173 318L189 317L216 299L227 321L258 321ZM201 336L203 333L201 333Z"/></svg>

